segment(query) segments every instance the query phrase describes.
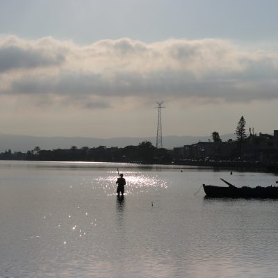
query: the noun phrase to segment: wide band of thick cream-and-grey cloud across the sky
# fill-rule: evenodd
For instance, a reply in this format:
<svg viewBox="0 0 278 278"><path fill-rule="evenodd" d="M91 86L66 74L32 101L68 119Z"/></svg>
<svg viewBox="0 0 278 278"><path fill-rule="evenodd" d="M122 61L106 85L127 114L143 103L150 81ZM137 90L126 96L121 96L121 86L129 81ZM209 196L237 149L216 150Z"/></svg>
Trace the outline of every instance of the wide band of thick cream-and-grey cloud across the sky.
<svg viewBox="0 0 278 278"><path fill-rule="evenodd" d="M220 39L122 38L80 47L8 37L0 39L0 81L0 94L53 96L85 108L108 108L111 97L269 100L278 98L278 51Z"/></svg>

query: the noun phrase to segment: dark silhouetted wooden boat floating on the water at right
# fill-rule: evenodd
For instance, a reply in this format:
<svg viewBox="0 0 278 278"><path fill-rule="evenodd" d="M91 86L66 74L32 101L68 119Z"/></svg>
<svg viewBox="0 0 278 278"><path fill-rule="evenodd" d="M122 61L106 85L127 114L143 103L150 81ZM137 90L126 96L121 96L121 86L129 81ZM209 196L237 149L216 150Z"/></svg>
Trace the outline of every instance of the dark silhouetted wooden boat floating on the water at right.
<svg viewBox="0 0 278 278"><path fill-rule="evenodd" d="M207 197L232 197L232 198L272 198L278 199L278 186L249 186L236 187L221 179L227 186L206 186L203 184L204 192Z"/></svg>

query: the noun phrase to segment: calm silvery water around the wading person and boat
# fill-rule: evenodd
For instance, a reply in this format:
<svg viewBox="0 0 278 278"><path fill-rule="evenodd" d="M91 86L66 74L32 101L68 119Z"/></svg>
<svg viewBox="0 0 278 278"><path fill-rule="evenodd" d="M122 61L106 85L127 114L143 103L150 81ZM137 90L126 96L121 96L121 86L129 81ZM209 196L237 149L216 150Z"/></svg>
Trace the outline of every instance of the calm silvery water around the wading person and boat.
<svg viewBox="0 0 278 278"><path fill-rule="evenodd" d="M126 196L115 196L117 167ZM0 162L0 277L277 277L278 201L206 199L259 172Z"/></svg>

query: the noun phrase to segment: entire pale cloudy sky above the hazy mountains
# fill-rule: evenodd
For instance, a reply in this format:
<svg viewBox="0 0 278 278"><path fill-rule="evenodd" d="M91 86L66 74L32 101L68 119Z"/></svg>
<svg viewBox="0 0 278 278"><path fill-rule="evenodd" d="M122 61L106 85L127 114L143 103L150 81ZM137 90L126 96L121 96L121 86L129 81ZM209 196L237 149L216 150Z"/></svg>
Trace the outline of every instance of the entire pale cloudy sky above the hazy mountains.
<svg viewBox="0 0 278 278"><path fill-rule="evenodd" d="M0 0L0 133L278 129L276 0Z"/></svg>

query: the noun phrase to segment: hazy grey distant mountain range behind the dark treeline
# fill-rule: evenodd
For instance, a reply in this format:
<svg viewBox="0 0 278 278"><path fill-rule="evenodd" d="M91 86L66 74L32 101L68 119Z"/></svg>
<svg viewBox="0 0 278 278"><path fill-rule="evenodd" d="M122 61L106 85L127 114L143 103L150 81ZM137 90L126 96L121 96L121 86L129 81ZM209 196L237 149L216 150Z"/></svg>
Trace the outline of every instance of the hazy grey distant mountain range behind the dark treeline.
<svg viewBox="0 0 278 278"><path fill-rule="evenodd" d="M234 134L224 134L222 141L235 139ZM211 136L164 136L163 147L173 149L183 145L190 145L199 141L211 140ZM155 146L156 137L122 137L122 138L85 138L85 137L38 137L0 134L0 152L11 149L12 152L26 152L38 146L40 149L70 149L76 147L126 147L137 146L142 141L150 141Z"/></svg>

